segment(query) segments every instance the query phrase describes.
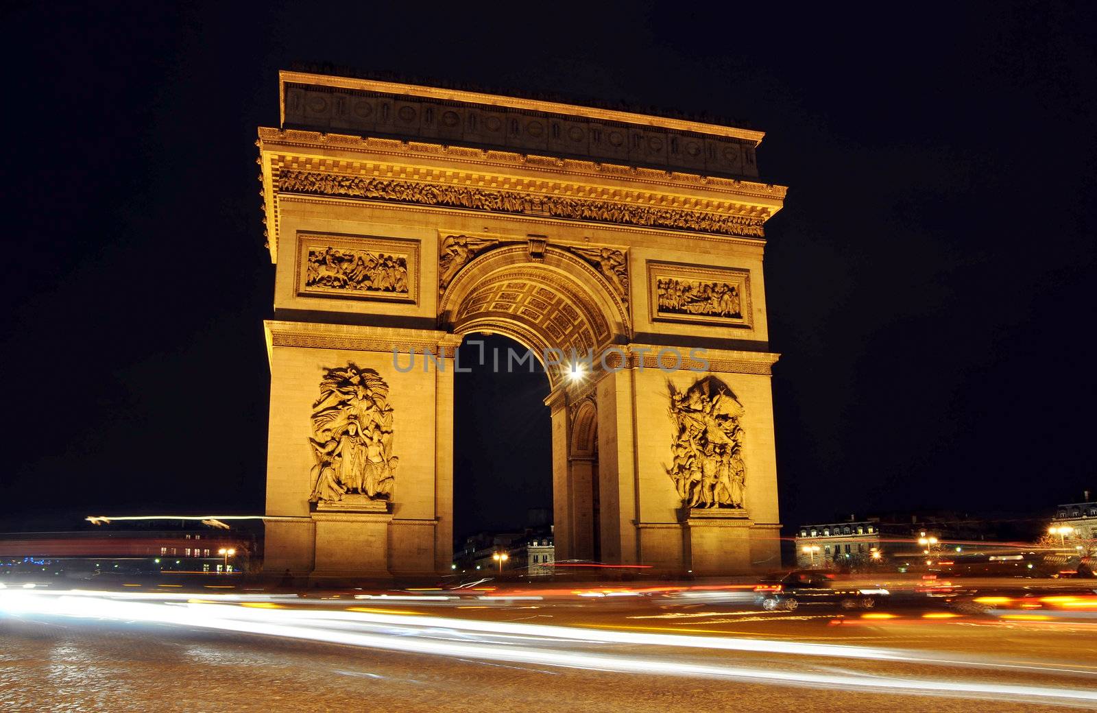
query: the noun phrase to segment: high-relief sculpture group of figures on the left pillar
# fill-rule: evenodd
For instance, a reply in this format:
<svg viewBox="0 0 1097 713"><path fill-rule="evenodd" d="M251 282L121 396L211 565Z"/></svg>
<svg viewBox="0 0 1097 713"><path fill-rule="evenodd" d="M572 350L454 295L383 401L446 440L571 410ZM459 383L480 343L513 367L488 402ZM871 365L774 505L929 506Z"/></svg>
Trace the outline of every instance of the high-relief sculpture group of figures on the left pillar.
<svg viewBox="0 0 1097 713"><path fill-rule="evenodd" d="M347 494L391 499L398 460L393 450L388 385L373 370L353 364L330 369L313 404L312 502L338 501Z"/></svg>

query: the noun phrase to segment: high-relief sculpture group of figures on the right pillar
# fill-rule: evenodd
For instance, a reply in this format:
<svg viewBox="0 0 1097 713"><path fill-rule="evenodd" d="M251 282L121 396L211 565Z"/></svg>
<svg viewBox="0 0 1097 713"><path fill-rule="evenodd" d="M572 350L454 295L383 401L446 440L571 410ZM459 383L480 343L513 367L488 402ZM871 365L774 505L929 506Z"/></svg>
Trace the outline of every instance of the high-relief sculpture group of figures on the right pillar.
<svg viewBox="0 0 1097 713"><path fill-rule="evenodd" d="M708 376L686 392L670 388L674 479L690 508L742 508L746 490L743 461L743 405L720 380Z"/></svg>

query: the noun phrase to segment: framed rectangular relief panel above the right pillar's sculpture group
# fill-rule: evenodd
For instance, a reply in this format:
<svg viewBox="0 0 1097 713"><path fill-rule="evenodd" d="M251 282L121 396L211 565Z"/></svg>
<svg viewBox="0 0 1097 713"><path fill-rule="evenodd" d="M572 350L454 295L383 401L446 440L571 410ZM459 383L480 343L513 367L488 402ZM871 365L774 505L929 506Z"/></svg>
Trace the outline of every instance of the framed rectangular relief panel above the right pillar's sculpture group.
<svg viewBox="0 0 1097 713"><path fill-rule="evenodd" d="M750 327L750 273L649 262L652 319Z"/></svg>

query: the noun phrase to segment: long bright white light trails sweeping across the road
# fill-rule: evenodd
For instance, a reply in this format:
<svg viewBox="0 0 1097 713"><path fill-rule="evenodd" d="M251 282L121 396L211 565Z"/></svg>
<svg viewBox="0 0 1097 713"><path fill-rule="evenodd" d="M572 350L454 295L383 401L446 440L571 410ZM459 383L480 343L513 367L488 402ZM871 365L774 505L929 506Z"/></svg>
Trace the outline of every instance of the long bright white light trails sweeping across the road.
<svg viewBox="0 0 1097 713"><path fill-rule="evenodd" d="M129 592L126 592L129 593ZM136 592L134 592L136 595ZM154 599L149 601L149 599ZM412 654L448 656L464 659L495 660L510 664L534 664L562 668L645 674L659 676L695 676L716 679L746 680L774 684L796 684L824 688L858 689L890 693L936 694L1042 703L1093 704L1097 691L1049 686L1004 684L991 681L964 681L954 678L905 678L892 675L814 672L781 667L767 660L764 666L698 664L675 660L666 654L653 656L620 656L614 654L548 648L551 643L615 643L648 646L674 646L736 652L830 656L911 663L908 652L849 645L811 644L730 637L647 634L621 631L590 631L567 626L517 624L450 619L441 616L406 616L394 613L314 611L306 609L244 608L227 597L218 603L185 601L180 597L137 596L115 597L101 592L38 592L34 590L0 591L0 612L14 615L56 615L77 619L106 619L121 622L143 622L238 634L258 634L330 644L378 648ZM384 625L393 633L348 631L351 626ZM452 641L439 633L464 632L478 635L479 641ZM483 638L487 635L488 638ZM490 637L516 637L522 643L493 642ZM538 646L540 643L541 646ZM928 663L943 663L932 661ZM949 661L957 663L957 661ZM998 668L994 664L984 664ZM1005 666L1003 668L1007 668ZM1008 667L1017 668L1017 667ZM1047 667L1025 667L1045 670Z"/></svg>

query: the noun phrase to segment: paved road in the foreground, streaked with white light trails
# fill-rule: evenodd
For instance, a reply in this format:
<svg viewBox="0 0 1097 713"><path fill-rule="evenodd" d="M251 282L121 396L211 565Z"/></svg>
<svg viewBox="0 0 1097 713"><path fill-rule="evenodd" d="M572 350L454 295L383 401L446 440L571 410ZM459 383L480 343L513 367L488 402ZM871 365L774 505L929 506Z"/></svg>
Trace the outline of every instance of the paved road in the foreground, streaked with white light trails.
<svg viewBox="0 0 1097 713"><path fill-rule="evenodd" d="M595 593L610 596L9 589L0 710L1097 708L1097 626L1085 618L762 613L734 592Z"/></svg>

